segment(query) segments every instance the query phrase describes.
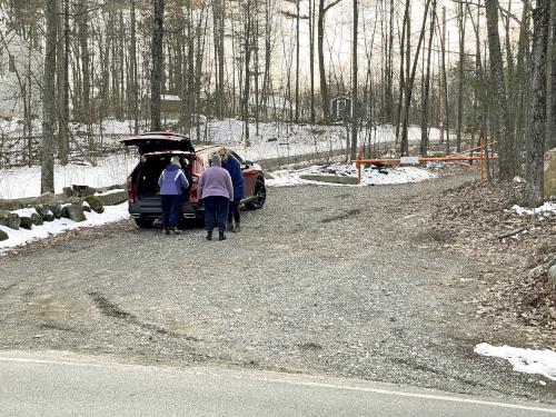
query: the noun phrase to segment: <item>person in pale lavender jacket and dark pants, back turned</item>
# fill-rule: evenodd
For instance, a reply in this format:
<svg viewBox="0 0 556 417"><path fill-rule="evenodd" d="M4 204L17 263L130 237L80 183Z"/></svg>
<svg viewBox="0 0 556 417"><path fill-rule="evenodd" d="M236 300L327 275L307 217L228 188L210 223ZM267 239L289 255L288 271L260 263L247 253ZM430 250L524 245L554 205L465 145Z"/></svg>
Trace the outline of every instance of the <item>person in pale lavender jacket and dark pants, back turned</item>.
<svg viewBox="0 0 556 417"><path fill-rule="evenodd" d="M212 240L212 229L218 226L218 240L226 239L226 220L228 219L229 202L234 201L234 186L231 177L224 169L218 153L210 157L210 167L202 171L198 193L205 207L205 229L207 240Z"/></svg>

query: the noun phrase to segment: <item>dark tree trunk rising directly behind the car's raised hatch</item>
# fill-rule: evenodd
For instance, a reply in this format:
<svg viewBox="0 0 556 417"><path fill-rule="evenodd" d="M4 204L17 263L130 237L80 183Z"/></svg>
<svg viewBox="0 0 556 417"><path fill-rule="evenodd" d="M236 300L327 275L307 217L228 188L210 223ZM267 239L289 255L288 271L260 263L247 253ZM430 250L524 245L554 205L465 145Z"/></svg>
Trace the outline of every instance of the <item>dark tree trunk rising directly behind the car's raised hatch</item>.
<svg viewBox="0 0 556 417"><path fill-rule="evenodd" d="M160 93L162 80L162 37L165 19L165 0L155 1L155 13L152 22L152 72L150 77L150 130L160 131Z"/></svg>

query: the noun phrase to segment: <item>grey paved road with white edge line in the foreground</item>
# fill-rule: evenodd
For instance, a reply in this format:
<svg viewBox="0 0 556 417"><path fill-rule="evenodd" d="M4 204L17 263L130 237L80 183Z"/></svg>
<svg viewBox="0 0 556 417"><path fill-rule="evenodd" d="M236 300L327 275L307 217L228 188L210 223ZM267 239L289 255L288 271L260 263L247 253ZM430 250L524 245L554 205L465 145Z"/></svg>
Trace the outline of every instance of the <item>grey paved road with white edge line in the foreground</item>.
<svg viewBox="0 0 556 417"><path fill-rule="evenodd" d="M0 380L0 414L14 417L556 415L556 408L533 403L496 403L364 380L130 366L64 353L2 353Z"/></svg>

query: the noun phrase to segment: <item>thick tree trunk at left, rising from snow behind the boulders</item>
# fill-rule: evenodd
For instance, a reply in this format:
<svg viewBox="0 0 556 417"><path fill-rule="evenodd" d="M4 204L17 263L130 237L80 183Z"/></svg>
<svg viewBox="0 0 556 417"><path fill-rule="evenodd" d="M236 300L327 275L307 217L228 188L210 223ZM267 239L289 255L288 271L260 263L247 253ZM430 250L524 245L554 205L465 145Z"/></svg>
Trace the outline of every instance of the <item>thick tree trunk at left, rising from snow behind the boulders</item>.
<svg viewBox="0 0 556 417"><path fill-rule="evenodd" d="M42 157L40 191L54 192L54 131L56 131L56 33L57 6L44 0L47 42L44 48L44 72L42 79Z"/></svg>

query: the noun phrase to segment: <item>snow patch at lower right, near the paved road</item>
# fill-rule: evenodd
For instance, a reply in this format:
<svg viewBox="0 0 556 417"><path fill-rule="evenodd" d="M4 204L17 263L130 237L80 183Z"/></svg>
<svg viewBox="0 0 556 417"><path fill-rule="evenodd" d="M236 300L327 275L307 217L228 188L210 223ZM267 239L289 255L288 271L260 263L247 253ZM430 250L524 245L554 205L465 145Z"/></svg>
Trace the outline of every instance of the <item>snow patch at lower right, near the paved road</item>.
<svg viewBox="0 0 556 417"><path fill-rule="evenodd" d="M492 346L489 344L479 344L474 351L483 356L506 359L515 371L539 374L547 379L556 380L556 351Z"/></svg>

